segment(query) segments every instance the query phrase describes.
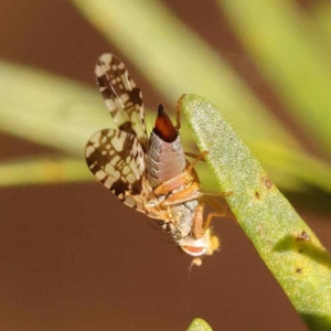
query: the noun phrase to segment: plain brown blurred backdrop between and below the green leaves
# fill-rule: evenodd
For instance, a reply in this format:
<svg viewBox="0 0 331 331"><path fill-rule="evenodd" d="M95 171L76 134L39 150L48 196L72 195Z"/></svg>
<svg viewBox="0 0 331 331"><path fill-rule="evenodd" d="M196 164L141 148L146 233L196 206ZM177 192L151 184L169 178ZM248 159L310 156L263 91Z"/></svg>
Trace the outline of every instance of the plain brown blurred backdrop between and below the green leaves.
<svg viewBox="0 0 331 331"><path fill-rule="evenodd" d="M191 0L190 11L188 1L164 2L309 146L212 1L202 6ZM305 8L309 3L300 1ZM111 51L126 62L68 1L1 1L0 17L3 60L90 86L99 54ZM130 72L146 104L154 108L160 96L137 71ZM7 135L0 136L0 146L2 160L57 153ZM331 250L329 196L313 189L285 194ZM191 273L190 258L152 220L120 204L93 180L1 189L0 220L0 330L186 330L195 317L213 330L307 330L241 227L228 218L215 222L221 252Z"/></svg>

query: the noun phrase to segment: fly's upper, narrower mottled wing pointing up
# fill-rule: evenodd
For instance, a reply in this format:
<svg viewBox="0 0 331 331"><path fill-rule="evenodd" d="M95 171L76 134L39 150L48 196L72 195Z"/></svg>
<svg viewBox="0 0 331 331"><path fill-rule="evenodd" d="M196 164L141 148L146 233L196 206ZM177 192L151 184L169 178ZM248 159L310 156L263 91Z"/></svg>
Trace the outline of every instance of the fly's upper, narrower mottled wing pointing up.
<svg viewBox="0 0 331 331"><path fill-rule="evenodd" d="M125 64L113 54L103 54L95 68L97 84L117 127L137 137L145 152L148 137L141 90Z"/></svg>

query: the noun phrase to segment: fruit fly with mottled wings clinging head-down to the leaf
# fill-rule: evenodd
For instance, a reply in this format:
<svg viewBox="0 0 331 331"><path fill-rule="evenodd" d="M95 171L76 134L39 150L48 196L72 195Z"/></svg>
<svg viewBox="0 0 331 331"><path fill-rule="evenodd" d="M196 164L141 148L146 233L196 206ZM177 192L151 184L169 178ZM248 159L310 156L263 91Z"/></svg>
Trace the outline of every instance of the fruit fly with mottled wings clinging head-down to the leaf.
<svg viewBox="0 0 331 331"><path fill-rule="evenodd" d="M193 257L212 255L220 242L212 234L211 220L224 213L200 190L194 167L206 152L191 163L185 159L179 135L179 106L177 126L163 106L158 107L148 139L142 94L124 63L113 54L104 54L95 74L117 128L100 130L88 140L85 157L90 172L126 205L161 220L183 252ZM216 212L204 218L206 203Z"/></svg>

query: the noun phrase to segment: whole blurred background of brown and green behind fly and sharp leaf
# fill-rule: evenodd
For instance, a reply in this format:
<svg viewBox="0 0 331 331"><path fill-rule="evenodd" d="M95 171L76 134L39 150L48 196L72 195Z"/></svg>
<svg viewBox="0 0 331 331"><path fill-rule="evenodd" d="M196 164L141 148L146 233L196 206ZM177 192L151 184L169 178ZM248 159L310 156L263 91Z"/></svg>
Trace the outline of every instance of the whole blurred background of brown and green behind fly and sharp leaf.
<svg viewBox="0 0 331 331"><path fill-rule="evenodd" d="M113 125L94 77L111 52L149 130L158 104L174 115L184 93L209 98L330 250L330 2L13 0L0 15L1 330L186 330L196 317L307 330L233 220L215 220L220 253L189 270L154 221L96 182L84 147Z"/></svg>

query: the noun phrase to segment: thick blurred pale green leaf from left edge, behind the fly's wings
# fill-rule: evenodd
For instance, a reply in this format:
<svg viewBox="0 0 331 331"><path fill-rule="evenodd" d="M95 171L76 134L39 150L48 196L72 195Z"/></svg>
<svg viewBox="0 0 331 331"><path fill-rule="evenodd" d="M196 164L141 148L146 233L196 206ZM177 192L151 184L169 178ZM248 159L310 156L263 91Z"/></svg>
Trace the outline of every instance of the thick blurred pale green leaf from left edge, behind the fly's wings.
<svg viewBox="0 0 331 331"><path fill-rule="evenodd" d="M87 139L111 126L99 95L82 84L6 62L0 71L4 132L83 158Z"/></svg>

